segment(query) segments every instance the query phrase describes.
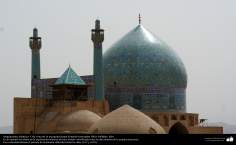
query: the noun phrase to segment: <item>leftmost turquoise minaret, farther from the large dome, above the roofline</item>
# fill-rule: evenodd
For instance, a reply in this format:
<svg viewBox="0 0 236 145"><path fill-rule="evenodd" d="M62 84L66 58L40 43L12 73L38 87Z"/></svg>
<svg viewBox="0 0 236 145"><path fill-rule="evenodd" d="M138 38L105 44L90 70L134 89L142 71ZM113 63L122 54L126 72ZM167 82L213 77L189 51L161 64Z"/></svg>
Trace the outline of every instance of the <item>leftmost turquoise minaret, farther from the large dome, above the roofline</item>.
<svg viewBox="0 0 236 145"><path fill-rule="evenodd" d="M40 79L40 48L41 37L38 37L38 30L34 28L33 37L29 38L29 46L32 50L31 79Z"/></svg>

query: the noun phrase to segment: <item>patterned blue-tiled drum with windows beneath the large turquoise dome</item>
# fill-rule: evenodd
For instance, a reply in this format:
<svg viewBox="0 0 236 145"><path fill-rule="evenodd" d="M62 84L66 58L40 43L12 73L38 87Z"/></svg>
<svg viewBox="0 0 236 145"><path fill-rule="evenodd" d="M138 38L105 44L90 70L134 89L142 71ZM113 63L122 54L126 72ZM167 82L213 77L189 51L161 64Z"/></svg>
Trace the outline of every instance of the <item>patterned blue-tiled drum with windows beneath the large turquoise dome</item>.
<svg viewBox="0 0 236 145"><path fill-rule="evenodd" d="M144 91L145 90L145 91ZM107 96L110 109L114 110L123 104L129 104L142 111L177 111L185 112L185 89L173 90L159 88L112 88L108 89ZM177 93L178 92L178 93Z"/></svg>

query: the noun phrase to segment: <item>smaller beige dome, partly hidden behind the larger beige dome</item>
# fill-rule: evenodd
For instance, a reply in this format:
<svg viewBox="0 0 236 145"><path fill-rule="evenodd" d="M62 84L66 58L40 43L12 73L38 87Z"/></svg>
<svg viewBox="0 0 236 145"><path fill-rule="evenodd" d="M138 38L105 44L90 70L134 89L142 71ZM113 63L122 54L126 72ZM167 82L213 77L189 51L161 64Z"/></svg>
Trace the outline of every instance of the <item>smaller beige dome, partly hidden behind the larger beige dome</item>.
<svg viewBox="0 0 236 145"><path fill-rule="evenodd" d="M89 127L101 117L88 110L79 110L62 117L57 122L56 131L60 133L87 133Z"/></svg>

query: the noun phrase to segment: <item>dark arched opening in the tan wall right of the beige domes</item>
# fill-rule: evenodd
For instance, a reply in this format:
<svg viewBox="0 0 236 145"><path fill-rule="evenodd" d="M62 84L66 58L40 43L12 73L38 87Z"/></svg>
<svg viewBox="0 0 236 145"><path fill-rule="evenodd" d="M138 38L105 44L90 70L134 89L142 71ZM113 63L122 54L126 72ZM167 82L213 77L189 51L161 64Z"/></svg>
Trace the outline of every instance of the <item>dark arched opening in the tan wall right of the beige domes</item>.
<svg viewBox="0 0 236 145"><path fill-rule="evenodd" d="M169 134L189 134L188 129L180 122L175 123L169 130Z"/></svg>

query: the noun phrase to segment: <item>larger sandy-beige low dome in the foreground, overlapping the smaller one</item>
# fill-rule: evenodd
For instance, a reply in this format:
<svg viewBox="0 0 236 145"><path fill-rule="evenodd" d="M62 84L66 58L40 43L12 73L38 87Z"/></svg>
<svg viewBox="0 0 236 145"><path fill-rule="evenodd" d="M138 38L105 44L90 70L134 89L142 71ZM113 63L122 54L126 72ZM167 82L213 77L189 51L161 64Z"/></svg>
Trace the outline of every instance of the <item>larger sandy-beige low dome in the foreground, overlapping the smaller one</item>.
<svg viewBox="0 0 236 145"><path fill-rule="evenodd" d="M123 105L94 123L88 133L165 134L164 129L142 112Z"/></svg>

